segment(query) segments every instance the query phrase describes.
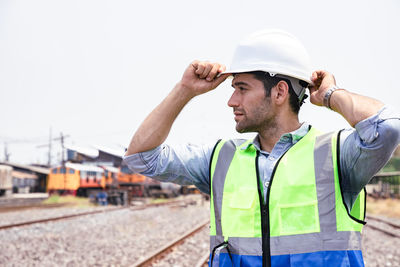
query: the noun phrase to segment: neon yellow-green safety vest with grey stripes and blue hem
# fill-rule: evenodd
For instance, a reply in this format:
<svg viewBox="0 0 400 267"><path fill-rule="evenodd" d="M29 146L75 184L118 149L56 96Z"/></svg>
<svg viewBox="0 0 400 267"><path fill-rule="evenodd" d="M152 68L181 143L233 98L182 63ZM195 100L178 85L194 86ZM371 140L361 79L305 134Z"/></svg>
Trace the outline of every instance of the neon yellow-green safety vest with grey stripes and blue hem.
<svg viewBox="0 0 400 267"><path fill-rule="evenodd" d="M338 136L311 128L277 162L266 203L251 141L216 145L210 166L212 266L364 265L365 190L348 212Z"/></svg>

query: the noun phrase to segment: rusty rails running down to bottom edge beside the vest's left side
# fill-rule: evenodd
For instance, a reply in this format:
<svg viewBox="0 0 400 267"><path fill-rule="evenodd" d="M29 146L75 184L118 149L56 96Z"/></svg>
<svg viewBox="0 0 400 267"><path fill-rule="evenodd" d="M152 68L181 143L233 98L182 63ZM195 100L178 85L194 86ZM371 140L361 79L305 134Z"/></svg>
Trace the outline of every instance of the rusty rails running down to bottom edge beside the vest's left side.
<svg viewBox="0 0 400 267"><path fill-rule="evenodd" d="M210 223L210 220L207 220L205 222L202 222L198 225L196 225L194 228L189 230L188 232L184 233L182 236L176 238L175 240L171 241L170 243L166 244L165 246L161 247L157 251L153 251L149 255L147 255L143 260L138 261L133 264L135 267L148 267L152 266L152 264L168 255L173 251L174 248L177 246L181 245L186 239L194 236L196 233L200 232L203 230L205 227L208 227ZM204 266L204 263L207 262L205 259L205 255L202 255L199 257L200 260L195 266ZM207 253L207 258L208 258L208 253Z"/></svg>

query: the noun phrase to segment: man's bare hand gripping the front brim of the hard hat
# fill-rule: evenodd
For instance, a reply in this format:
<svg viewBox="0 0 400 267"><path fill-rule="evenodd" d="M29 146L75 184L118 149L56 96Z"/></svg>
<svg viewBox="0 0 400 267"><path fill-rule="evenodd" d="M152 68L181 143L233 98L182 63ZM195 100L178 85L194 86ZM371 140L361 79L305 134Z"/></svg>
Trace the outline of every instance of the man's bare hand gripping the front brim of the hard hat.
<svg viewBox="0 0 400 267"><path fill-rule="evenodd" d="M195 97L215 89L225 81L230 74L219 76L224 71L222 64L195 60L185 70L179 85L185 93Z"/></svg>

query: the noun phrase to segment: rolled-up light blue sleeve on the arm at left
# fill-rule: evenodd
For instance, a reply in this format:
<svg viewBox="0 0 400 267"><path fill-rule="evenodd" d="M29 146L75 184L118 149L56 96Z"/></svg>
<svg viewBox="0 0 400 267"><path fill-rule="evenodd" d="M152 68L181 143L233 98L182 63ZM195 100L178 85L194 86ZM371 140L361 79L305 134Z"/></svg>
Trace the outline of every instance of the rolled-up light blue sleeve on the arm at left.
<svg viewBox="0 0 400 267"><path fill-rule="evenodd" d="M166 144L124 157L135 173L180 185L195 185L209 194L209 162L213 145L172 147Z"/></svg>

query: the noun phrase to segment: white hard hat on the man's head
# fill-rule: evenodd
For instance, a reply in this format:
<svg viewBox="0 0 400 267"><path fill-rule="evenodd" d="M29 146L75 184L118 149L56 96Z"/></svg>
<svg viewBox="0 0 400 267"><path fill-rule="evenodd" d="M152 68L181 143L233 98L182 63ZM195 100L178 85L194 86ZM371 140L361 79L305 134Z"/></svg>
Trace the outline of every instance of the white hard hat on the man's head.
<svg viewBox="0 0 400 267"><path fill-rule="evenodd" d="M282 30L255 32L239 43L232 64L224 73L265 71L311 83L308 53L301 42Z"/></svg>

